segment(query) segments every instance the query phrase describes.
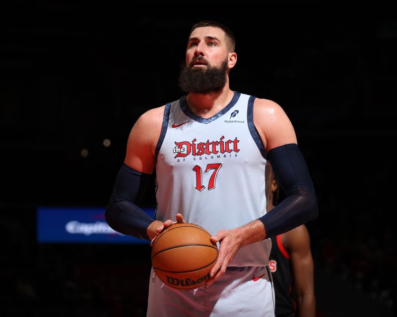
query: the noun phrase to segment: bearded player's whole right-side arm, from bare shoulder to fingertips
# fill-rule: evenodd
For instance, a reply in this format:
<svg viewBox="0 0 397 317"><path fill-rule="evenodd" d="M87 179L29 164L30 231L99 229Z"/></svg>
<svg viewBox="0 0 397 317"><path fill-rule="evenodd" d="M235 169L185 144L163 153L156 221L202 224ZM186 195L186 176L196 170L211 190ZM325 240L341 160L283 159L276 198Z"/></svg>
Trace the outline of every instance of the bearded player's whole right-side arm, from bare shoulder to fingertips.
<svg viewBox="0 0 397 317"><path fill-rule="evenodd" d="M300 168L306 167L306 163L300 152L295 149L297 148L295 131L283 109L272 101L257 99L254 103L254 124L266 152L270 153L274 150L270 157L275 158L275 162L271 160L270 162L272 166L274 164L273 170L279 185L289 197L283 205L280 204L275 208L278 212L266 213L264 217L239 228L220 230L211 238L215 243L221 242L221 245L218 260L210 272L213 278L207 281L207 286L226 271L227 264L239 248L286 232L317 216L317 200L313 184L307 168ZM285 154L283 147L286 145L289 145L288 151L293 152L293 155ZM295 164L296 158L299 159L298 164ZM283 161L276 164L279 159ZM292 161L288 161L289 159ZM284 169L283 167L288 164L289 168ZM296 167L300 173L295 173Z"/></svg>

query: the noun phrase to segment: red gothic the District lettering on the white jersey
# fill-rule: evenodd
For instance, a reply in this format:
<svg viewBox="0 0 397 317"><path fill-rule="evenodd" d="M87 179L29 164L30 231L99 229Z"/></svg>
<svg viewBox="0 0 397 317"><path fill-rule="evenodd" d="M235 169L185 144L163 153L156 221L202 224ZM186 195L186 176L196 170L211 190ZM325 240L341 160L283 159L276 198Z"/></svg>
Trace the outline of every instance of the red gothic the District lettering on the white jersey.
<svg viewBox="0 0 397 317"><path fill-rule="evenodd" d="M205 141L196 143L197 139L193 139L192 142L181 141L175 142L176 147L173 152L176 153L174 158L186 158L188 155L201 156L210 154L224 154L224 153L238 153L238 143L240 142L237 138L234 140L224 141L225 137L222 135L219 141Z"/></svg>

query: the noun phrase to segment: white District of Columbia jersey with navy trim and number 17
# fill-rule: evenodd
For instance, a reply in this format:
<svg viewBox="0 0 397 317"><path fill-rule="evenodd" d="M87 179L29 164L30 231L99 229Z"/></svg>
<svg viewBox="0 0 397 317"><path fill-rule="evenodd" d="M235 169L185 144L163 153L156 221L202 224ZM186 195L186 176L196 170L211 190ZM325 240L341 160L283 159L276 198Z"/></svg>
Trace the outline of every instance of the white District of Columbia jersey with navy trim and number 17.
<svg viewBox="0 0 397 317"><path fill-rule="evenodd" d="M165 106L156 147L156 219L185 220L208 230L245 225L266 213L262 140L255 97L234 93L210 118L191 112L186 96ZM242 247L229 266L265 266L271 241Z"/></svg>

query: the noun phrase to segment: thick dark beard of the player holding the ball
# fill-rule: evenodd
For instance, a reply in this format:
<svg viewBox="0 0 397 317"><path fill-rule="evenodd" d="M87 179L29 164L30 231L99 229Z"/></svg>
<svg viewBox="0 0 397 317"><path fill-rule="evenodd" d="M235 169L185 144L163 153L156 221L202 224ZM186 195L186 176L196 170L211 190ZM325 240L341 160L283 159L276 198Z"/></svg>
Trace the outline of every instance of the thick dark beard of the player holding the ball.
<svg viewBox="0 0 397 317"><path fill-rule="evenodd" d="M219 68L207 66L195 68L181 64L179 73L179 87L184 92L208 94L220 91L226 84L227 60L223 61Z"/></svg>

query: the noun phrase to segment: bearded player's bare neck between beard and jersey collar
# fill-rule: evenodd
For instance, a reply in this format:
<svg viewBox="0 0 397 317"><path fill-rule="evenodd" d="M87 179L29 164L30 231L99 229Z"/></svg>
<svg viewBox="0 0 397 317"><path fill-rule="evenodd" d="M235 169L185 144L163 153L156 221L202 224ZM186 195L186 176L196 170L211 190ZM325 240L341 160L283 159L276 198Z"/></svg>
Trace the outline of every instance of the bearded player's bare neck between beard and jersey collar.
<svg viewBox="0 0 397 317"><path fill-rule="evenodd" d="M186 103L189 109L203 118L209 118L227 106L234 96L228 85L218 92L208 94L189 93Z"/></svg>

